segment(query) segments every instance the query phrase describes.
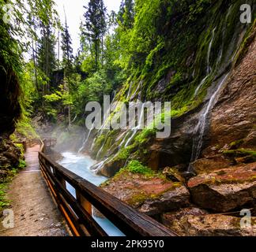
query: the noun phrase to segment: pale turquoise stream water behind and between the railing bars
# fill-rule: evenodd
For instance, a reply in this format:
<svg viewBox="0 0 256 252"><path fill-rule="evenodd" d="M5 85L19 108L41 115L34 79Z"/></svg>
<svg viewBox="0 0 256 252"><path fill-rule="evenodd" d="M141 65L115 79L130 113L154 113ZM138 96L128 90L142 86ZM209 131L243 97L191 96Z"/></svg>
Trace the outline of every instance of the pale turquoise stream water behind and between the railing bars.
<svg viewBox="0 0 256 252"><path fill-rule="evenodd" d="M104 183L107 178L104 176L97 176L92 170L90 169L92 165L95 165L96 161L92 160L89 156L83 156L80 154L73 154L73 153L62 153L63 159L59 161L59 164L69 169L71 172L81 176L85 180L99 186L100 183ZM70 193L76 198L75 189L69 184L66 183L66 188ZM111 221L108 221L106 218L98 217L92 211L93 219L100 225L101 228L107 232L107 235L110 236L124 236L124 234L115 227Z"/></svg>

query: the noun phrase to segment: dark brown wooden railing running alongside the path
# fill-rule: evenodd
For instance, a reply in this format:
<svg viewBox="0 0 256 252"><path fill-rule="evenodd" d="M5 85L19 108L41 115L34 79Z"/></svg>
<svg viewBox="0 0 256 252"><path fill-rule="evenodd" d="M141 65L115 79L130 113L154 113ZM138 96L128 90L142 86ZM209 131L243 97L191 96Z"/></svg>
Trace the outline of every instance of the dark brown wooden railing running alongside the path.
<svg viewBox="0 0 256 252"><path fill-rule="evenodd" d="M151 217L137 212L100 187L51 161L43 154L45 146L49 145L51 144L46 141L42 143L39 153L40 167L73 235L107 236L92 217L93 206L127 236L177 236ZM67 190L66 183L74 188L75 196Z"/></svg>

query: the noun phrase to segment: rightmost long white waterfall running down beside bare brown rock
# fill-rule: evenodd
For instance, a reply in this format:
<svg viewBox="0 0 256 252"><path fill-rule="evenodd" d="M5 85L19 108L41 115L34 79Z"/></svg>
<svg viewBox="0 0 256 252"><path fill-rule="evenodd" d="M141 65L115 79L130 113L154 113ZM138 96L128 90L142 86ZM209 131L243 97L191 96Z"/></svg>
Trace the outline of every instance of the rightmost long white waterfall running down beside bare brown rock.
<svg viewBox="0 0 256 252"><path fill-rule="evenodd" d="M205 128L207 125L209 113L210 113L211 109L213 109L214 102L216 101L216 97L219 94L220 89L223 87L225 81L227 80L228 75L229 75L229 73L226 76L224 76L223 80L221 80L216 91L214 92L212 97L209 99L209 102L208 102L207 106L205 107L204 113L202 113L201 117L199 117L198 125L196 126L196 130L195 130L196 136L194 137L194 141L193 141L193 150L192 150L191 161L190 161L190 166L189 166L188 172L193 172L193 167L192 167L191 163L193 161L197 160L201 154L201 147L203 144L203 137L205 135Z"/></svg>

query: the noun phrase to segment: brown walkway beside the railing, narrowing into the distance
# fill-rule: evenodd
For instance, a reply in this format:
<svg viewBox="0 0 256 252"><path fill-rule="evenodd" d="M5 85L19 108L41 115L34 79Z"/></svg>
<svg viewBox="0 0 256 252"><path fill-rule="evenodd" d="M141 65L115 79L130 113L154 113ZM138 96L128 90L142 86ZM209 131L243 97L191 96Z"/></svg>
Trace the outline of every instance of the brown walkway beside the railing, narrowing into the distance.
<svg viewBox="0 0 256 252"><path fill-rule="evenodd" d="M9 185L7 198L14 212L14 228L0 223L0 236L66 236L66 224L43 180L38 161L40 146L28 148L27 169Z"/></svg>

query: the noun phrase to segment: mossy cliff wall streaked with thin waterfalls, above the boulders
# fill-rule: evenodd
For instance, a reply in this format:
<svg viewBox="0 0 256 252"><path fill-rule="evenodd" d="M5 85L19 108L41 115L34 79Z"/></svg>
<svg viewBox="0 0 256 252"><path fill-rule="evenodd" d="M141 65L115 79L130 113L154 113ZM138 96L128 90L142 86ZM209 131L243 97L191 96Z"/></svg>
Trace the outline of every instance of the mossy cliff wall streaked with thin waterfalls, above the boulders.
<svg viewBox="0 0 256 252"><path fill-rule="evenodd" d="M161 50L155 52L150 71L142 68L146 62L142 69L131 70L136 74L130 76L115 96L112 105L115 112L108 118L120 111L115 102L171 101L171 136L156 139L156 132L147 129L135 134L128 129L92 132L95 140L88 142L92 143L90 152L101 162L102 174L113 176L130 158L153 170L181 164L186 169L191 161L198 120L228 73L210 109L213 113L206 120L201 149L210 150L214 145L220 150L239 139L251 142L250 148L254 148L255 24L239 21L242 1L202 2L198 16L194 17L190 13L193 8L186 5L182 13L188 16L181 18L175 11L171 14L164 27L164 42ZM241 115L237 117L235 111ZM216 143L218 139L223 140ZM216 154L217 151L213 155ZM209 157L209 152L202 151L199 158L206 156Z"/></svg>

